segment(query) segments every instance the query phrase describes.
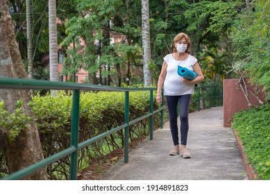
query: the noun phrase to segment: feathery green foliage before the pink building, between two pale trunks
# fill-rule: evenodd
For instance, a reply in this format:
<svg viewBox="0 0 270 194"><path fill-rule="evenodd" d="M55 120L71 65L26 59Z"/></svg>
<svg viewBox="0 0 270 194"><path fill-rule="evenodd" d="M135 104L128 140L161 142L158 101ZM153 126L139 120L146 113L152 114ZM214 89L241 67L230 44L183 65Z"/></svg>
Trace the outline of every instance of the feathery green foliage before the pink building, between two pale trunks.
<svg viewBox="0 0 270 194"><path fill-rule="evenodd" d="M81 51L81 68L92 73L92 77L99 71L100 76L108 76L108 82L111 80L110 76L115 74L118 85L121 86L121 78L130 79L131 65L142 66L135 55L141 49L137 42L140 39L140 21L132 16L138 15L135 6L137 3L133 1L78 1L80 14L66 23L67 37L62 46L68 46L79 39L84 45L74 46ZM119 37L122 41L112 43L111 37ZM68 49L74 49L71 47ZM128 53L127 48L130 50ZM71 55L67 57L72 58ZM111 67L117 67L117 71L110 71ZM125 73L125 69L121 70L121 67L127 67L126 75L121 76Z"/></svg>

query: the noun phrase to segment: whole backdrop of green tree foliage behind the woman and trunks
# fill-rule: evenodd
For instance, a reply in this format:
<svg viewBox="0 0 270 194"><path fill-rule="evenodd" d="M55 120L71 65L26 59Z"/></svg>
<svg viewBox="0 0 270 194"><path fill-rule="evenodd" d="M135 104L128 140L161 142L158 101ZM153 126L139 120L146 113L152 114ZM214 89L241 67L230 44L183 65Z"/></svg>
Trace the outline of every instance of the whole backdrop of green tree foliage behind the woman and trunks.
<svg viewBox="0 0 270 194"><path fill-rule="evenodd" d="M17 24L17 40L25 48L21 28L24 1L8 2L15 10L12 18ZM83 68L90 73L90 82L97 83L99 73L113 85L121 85L126 78L130 85L130 80L140 80L133 69L142 71L143 64L141 9L141 1L132 0L58 0L57 17L62 21L58 24L58 43L62 42L67 53L63 73L71 75ZM47 11L47 1L33 1L35 66L41 64L40 56L49 53ZM269 1L149 1L149 17L153 84L164 55L172 51L172 39L184 32L192 39L191 54L199 58L205 82L234 78L238 76L235 67L244 64L242 69L249 72L251 81L264 86L269 94ZM112 35L121 36L122 41L111 44ZM74 43L76 48L72 48ZM23 58L25 51L21 49ZM76 60L72 62L72 58Z"/></svg>

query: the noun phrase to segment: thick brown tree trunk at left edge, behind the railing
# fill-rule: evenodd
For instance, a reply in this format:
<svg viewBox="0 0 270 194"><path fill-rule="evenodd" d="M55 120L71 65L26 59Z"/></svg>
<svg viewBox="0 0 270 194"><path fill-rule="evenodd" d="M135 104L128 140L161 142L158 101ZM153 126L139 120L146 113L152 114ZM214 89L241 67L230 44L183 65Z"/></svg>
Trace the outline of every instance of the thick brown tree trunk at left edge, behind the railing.
<svg viewBox="0 0 270 194"><path fill-rule="evenodd" d="M27 78L22 58L17 46L13 21L8 12L6 1L0 1L0 76L10 78ZM12 113L16 109L17 100L22 100L22 109L26 116L33 118L27 129L19 132L14 141L8 140L6 130L0 128L0 139L5 141L6 158L9 173L25 168L44 159L40 136L35 124L33 110L27 105L30 100L29 90L0 89L0 100L4 100L5 109ZM44 170L38 170L24 179L47 179Z"/></svg>

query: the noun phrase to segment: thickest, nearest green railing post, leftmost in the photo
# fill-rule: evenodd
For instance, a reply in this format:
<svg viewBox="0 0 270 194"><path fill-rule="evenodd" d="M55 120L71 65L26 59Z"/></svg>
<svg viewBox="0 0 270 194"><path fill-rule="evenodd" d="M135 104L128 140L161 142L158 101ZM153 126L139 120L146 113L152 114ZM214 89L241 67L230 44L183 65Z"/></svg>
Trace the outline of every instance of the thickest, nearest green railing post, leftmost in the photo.
<svg viewBox="0 0 270 194"><path fill-rule="evenodd" d="M80 106L80 90L75 89L72 100L72 118L71 118L71 146L76 147L76 152L70 156L70 172L69 179L77 179L78 166L78 120L79 120L79 106Z"/></svg>

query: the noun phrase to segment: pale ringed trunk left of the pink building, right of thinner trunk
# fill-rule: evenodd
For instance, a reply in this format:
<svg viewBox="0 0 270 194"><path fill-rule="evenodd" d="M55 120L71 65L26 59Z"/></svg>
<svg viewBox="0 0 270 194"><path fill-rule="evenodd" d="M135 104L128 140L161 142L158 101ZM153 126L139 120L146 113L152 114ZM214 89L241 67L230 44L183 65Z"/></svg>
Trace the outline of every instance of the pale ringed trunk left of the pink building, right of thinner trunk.
<svg viewBox="0 0 270 194"><path fill-rule="evenodd" d="M49 0L49 53L50 81L58 81L58 42L56 23L56 0Z"/></svg>

